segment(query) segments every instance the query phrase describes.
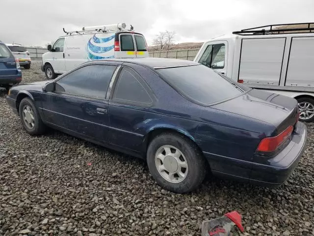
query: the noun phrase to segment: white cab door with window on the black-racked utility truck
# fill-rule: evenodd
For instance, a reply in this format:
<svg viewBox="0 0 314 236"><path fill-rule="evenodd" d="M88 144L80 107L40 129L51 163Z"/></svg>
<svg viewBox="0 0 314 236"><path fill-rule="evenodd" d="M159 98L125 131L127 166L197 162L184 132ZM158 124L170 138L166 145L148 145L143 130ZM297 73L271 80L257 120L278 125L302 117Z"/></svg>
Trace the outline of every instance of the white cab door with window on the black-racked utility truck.
<svg viewBox="0 0 314 236"><path fill-rule="evenodd" d="M226 52L228 52L227 41L209 42L203 47L196 61L226 75L228 61Z"/></svg>

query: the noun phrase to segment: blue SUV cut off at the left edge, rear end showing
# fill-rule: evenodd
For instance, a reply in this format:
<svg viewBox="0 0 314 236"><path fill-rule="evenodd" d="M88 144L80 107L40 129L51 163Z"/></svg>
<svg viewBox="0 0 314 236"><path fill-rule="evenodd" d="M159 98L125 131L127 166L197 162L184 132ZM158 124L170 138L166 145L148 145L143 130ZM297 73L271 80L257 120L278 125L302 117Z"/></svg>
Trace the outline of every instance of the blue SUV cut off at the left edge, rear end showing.
<svg viewBox="0 0 314 236"><path fill-rule="evenodd" d="M0 87L10 89L22 80L22 71L19 60L10 49L0 41Z"/></svg>

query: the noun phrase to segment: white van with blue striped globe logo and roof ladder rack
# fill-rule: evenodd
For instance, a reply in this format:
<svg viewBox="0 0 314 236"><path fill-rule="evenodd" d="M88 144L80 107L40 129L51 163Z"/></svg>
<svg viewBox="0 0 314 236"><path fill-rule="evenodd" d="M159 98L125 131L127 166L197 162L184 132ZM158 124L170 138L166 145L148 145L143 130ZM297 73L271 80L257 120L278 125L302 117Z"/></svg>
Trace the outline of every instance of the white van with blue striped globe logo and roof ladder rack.
<svg viewBox="0 0 314 236"><path fill-rule="evenodd" d="M47 79L54 79L88 60L148 57L144 36L125 23L83 27L81 31L67 32L48 45L43 54L42 71Z"/></svg>

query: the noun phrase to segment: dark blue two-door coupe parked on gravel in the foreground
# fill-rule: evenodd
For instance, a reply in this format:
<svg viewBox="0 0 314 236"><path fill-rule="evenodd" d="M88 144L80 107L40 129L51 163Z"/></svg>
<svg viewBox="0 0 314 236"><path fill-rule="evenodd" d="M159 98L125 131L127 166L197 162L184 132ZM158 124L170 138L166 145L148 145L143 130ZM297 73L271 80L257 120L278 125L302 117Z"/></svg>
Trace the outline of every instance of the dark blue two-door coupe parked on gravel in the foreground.
<svg viewBox="0 0 314 236"><path fill-rule="evenodd" d="M7 102L29 134L50 126L145 158L157 183L178 193L199 186L207 171L279 185L307 137L295 99L187 60L90 61L53 81L13 87Z"/></svg>

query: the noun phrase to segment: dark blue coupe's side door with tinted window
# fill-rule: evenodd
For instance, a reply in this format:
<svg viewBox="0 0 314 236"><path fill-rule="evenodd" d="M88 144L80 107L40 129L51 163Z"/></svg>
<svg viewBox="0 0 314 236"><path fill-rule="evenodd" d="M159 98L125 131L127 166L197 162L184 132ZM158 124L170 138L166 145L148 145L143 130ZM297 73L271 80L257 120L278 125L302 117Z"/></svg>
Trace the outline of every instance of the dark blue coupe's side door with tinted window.
<svg viewBox="0 0 314 236"><path fill-rule="evenodd" d="M62 76L43 103L45 119L76 136L106 143L106 92L116 68L115 64L89 64Z"/></svg>

